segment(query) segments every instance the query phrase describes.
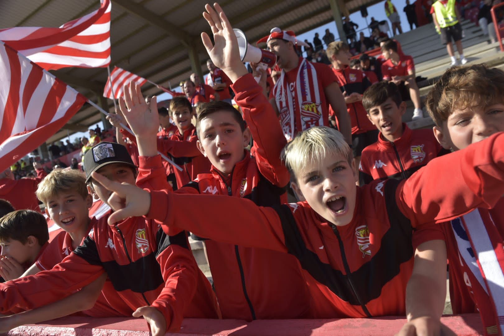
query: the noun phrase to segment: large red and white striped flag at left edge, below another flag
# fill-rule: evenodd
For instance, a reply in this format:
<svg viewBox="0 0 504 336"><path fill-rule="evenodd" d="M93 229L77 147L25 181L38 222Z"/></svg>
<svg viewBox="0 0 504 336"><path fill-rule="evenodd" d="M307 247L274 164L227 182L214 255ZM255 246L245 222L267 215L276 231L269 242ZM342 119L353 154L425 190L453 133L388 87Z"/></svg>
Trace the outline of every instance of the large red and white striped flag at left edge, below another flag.
<svg viewBox="0 0 504 336"><path fill-rule="evenodd" d="M0 172L54 135L87 98L0 41Z"/></svg>

